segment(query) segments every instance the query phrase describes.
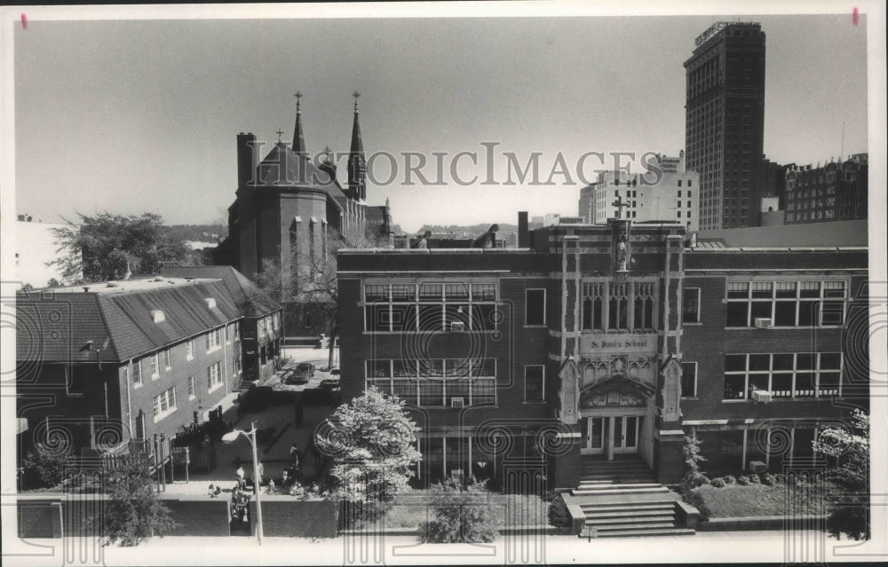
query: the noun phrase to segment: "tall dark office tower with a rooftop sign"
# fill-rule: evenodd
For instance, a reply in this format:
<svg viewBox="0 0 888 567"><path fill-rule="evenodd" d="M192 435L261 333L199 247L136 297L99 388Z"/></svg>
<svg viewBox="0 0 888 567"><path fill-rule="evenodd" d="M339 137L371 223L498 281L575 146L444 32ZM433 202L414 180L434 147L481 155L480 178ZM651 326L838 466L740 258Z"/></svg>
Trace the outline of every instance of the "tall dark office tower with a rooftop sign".
<svg viewBox="0 0 888 567"><path fill-rule="evenodd" d="M687 169L700 173L700 228L752 226L765 132L765 32L713 24L694 42L687 77Z"/></svg>

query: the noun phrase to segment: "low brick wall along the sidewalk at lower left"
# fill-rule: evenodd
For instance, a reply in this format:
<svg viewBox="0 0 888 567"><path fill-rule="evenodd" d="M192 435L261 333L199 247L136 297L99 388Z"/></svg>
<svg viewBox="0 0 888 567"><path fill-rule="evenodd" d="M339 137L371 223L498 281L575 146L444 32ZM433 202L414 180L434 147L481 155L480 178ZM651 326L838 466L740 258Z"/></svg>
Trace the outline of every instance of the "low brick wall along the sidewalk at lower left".
<svg viewBox="0 0 888 567"><path fill-rule="evenodd" d="M179 525L172 536L219 537L230 535L227 498L161 495L170 516ZM90 518L102 515L107 497L102 494L20 495L17 501L18 533L23 539L92 537ZM250 500L250 517L256 502ZM335 538L337 503L331 500L294 500L288 496L262 497L263 532L266 536ZM251 524L256 533L256 523Z"/></svg>

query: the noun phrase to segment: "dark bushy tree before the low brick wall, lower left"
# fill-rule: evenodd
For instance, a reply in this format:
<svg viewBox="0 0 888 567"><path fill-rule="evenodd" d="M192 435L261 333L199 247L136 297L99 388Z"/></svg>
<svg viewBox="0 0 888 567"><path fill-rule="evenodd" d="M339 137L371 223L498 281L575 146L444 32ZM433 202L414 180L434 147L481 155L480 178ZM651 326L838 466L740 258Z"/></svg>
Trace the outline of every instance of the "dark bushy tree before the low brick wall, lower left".
<svg viewBox="0 0 888 567"><path fill-rule="evenodd" d="M99 530L104 545L138 546L176 529L170 510L157 498L147 460L133 458L104 476L108 499Z"/></svg>

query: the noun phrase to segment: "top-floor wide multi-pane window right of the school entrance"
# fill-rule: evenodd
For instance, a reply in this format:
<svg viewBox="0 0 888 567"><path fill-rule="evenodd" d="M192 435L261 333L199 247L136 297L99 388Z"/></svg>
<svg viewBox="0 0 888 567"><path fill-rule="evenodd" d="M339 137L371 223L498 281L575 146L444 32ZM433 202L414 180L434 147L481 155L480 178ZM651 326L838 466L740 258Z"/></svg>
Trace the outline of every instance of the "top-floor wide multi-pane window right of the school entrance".
<svg viewBox="0 0 888 567"><path fill-rule="evenodd" d="M774 327L840 326L845 297L844 281L729 281L726 327L753 327L756 319Z"/></svg>

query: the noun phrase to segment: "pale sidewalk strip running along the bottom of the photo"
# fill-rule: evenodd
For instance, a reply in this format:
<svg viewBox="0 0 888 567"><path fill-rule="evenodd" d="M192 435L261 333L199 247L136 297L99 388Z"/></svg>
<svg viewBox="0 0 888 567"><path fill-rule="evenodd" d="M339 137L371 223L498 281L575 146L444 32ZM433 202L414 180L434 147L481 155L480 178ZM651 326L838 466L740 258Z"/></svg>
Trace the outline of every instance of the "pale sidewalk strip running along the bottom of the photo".
<svg viewBox="0 0 888 567"><path fill-rule="evenodd" d="M520 544L524 544L523 546ZM89 544L89 545L87 545ZM788 545L789 544L789 545ZM867 550L850 546L857 542L829 539L822 532L801 532L792 539L782 532L708 532L686 538L594 539L546 536L543 539L501 537L492 545L419 545L411 536L365 539L266 538L259 547L252 538L151 539L139 547L93 547L91 541L67 542L67 563L104 561L106 565L135 564L324 564L361 563L720 563L732 562L842 562L866 557L849 556L868 551L888 554L885 542L873 542ZM4 538L4 554L16 565L61 565L63 547L58 539ZM363 555L363 556L361 556ZM871 555L875 560L878 555ZM7 563L13 564L13 563Z"/></svg>

